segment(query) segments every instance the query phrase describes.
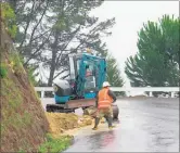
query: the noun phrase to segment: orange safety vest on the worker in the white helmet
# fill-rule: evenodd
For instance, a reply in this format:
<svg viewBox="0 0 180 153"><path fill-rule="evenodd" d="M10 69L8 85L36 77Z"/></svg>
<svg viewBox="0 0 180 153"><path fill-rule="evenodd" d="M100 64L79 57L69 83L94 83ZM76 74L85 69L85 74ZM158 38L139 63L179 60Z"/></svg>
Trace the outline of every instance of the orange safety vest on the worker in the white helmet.
<svg viewBox="0 0 180 153"><path fill-rule="evenodd" d="M111 106L113 99L108 95L108 88L103 88L99 91L98 109L107 109Z"/></svg>

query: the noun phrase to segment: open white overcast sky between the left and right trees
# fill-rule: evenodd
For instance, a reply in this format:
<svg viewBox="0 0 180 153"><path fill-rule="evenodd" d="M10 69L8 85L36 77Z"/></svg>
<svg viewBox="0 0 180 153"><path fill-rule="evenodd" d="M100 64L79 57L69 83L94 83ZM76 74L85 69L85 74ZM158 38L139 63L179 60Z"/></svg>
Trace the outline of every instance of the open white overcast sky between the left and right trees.
<svg viewBox="0 0 180 153"><path fill-rule="evenodd" d="M100 21L115 17L116 24L111 29L111 37L104 40L108 50L117 59L121 76L129 81L124 73L125 61L136 54L138 31L143 23L157 21L164 14L179 16L179 1L105 1L100 8L94 9L91 14L100 17Z"/></svg>

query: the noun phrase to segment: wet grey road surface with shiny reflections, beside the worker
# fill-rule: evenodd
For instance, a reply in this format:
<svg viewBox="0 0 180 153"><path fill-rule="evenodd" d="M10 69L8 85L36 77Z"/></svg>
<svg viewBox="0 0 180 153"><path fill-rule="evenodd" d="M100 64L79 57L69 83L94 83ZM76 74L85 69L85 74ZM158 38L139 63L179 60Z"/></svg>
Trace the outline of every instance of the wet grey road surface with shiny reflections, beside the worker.
<svg viewBox="0 0 180 153"><path fill-rule="evenodd" d="M179 152L179 100L123 99L120 124L82 129L65 152Z"/></svg>

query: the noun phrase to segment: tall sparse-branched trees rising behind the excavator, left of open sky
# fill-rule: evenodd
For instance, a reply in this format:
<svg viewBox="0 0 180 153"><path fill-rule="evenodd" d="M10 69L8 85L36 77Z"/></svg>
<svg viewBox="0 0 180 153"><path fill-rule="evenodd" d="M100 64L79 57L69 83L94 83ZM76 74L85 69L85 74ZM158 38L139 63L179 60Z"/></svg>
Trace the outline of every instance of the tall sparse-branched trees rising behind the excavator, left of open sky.
<svg viewBox="0 0 180 153"><path fill-rule="evenodd" d="M69 53L86 48L100 52L106 50L101 36L111 35L107 29L114 25L115 18L100 23L98 17L89 16L102 0L9 1L18 16L16 44L25 56L24 66L42 62L50 71L49 86L68 69Z"/></svg>

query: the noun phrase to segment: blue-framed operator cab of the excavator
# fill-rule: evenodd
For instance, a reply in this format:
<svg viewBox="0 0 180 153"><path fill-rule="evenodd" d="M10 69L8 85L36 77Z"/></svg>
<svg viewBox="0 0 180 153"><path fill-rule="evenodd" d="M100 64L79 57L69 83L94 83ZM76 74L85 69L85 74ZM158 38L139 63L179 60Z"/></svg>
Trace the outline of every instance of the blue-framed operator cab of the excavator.
<svg viewBox="0 0 180 153"><path fill-rule="evenodd" d="M105 59L88 53L69 55L70 80L78 99L94 99L105 80Z"/></svg>

